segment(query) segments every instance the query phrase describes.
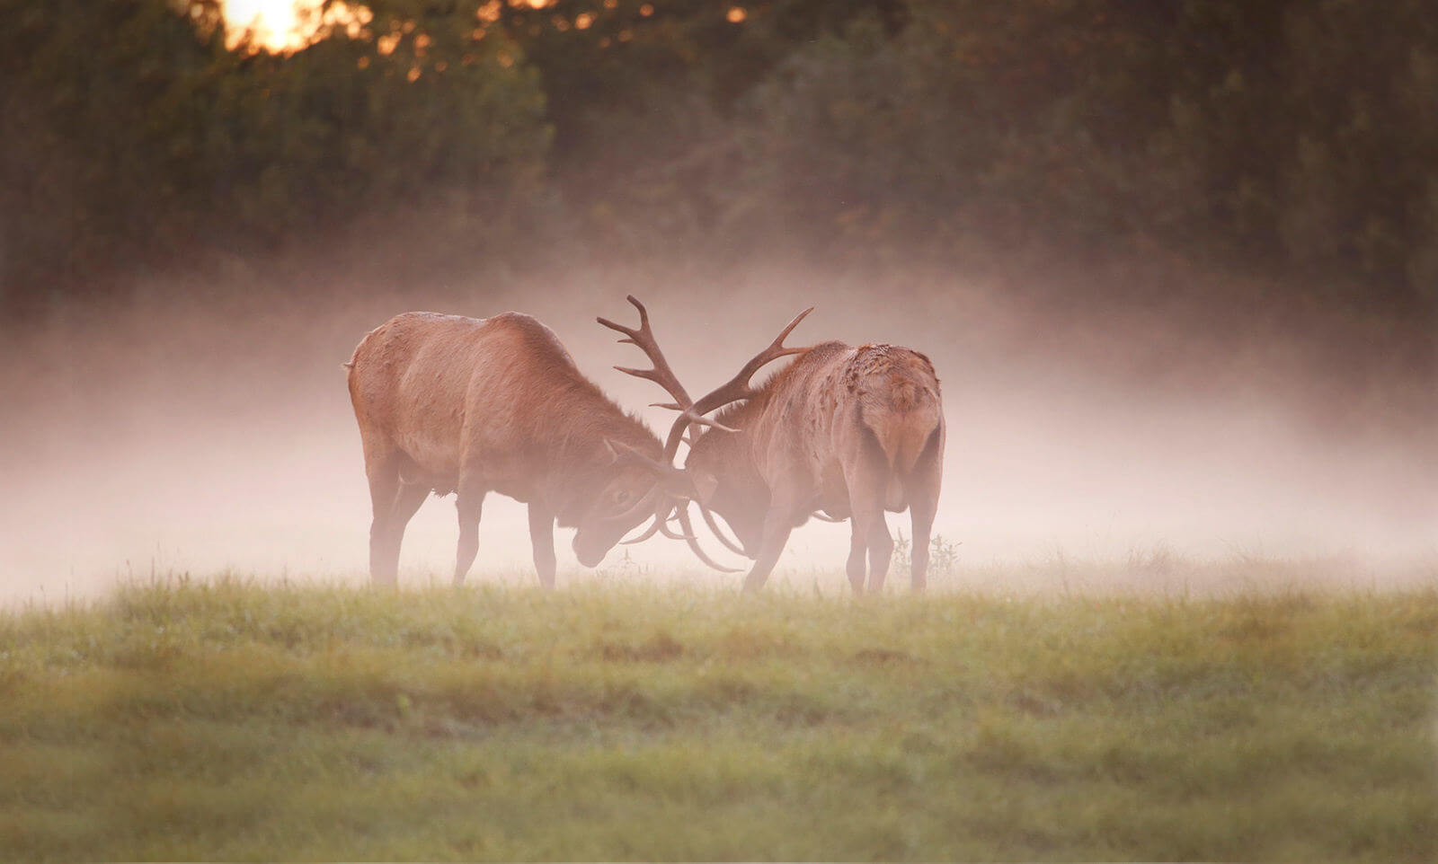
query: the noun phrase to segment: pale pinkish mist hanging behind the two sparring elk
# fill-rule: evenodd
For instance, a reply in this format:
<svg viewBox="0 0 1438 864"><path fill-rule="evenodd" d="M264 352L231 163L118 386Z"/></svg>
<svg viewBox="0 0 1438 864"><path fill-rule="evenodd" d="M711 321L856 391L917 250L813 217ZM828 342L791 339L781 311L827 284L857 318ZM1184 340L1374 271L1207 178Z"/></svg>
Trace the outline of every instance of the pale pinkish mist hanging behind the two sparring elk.
<svg viewBox="0 0 1438 864"><path fill-rule="evenodd" d="M1431 578L1438 558L1424 384L1336 384L1334 358L1362 348L1333 341L1343 334L1234 335L1182 309L1076 313L1044 299L1068 288L1064 275L1048 276L1053 292L1017 292L982 276L791 262L368 282L316 277L324 267L256 262L223 300L207 299L214 286L175 300L184 292L168 285L164 300L95 306L9 341L0 598L63 601L184 572L364 584L370 502L339 367L360 338L411 309L528 312L663 434L672 415L646 407L663 394L611 368L636 365L636 349L594 323L623 316L627 293L649 305L690 391L726 380L810 305L791 344L926 352L949 430L935 532L958 556L933 576L939 591L1011 589L1024 568L1044 591L1073 562L1123 564L1110 578L1125 589L1171 589L1173 562L1185 562L1185 588L1201 589L1231 576L1204 565L1260 559L1340 561L1286 578L1372 587ZM889 525L909 535L907 513ZM795 530L777 579L840 591L847 530ZM454 538L453 497L431 497L406 533L401 585L447 579ZM578 566L568 541L561 530L561 585L738 587L663 538L617 546L597 571ZM522 505L489 496L470 579L532 584L529 555Z"/></svg>

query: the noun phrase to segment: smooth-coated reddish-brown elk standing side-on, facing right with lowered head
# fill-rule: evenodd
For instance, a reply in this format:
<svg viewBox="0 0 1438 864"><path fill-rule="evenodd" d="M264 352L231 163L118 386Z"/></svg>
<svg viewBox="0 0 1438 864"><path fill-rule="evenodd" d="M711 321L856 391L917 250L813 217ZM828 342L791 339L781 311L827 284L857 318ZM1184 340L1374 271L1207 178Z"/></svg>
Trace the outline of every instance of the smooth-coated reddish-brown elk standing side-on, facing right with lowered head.
<svg viewBox="0 0 1438 864"><path fill-rule="evenodd" d="M490 492L529 505L545 587L554 585L557 520L578 529L574 553L595 566L667 500L647 461L660 454L654 433L600 392L554 331L528 315L408 312L371 331L345 365L378 584L395 582L404 528L430 492L457 493L454 584L475 562Z"/></svg>

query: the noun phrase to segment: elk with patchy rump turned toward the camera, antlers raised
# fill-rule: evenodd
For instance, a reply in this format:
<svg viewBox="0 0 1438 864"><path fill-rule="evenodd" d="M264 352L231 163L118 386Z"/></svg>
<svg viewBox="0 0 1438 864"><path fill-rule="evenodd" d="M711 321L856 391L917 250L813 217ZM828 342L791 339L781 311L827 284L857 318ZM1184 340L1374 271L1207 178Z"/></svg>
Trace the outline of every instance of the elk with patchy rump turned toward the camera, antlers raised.
<svg viewBox="0 0 1438 864"><path fill-rule="evenodd" d="M640 311L637 331L600 323L626 334L623 341L638 345L654 368L621 371L660 384L674 400L663 407L680 413L656 470L677 472L672 461L680 440L689 441L682 470L689 495L718 539L754 559L746 591L768 579L789 532L820 513L851 522L847 571L854 592L866 589L866 558L867 589L881 589L893 553L884 510L905 509L913 520L910 582L923 589L945 437L939 380L929 358L896 345L785 348L785 336L810 308L731 381L690 400L654 341L644 306L628 300ZM751 384L761 367L788 355L794 362L765 384ZM725 410L706 417L719 408ZM686 503L676 506L683 515ZM723 516L738 543L712 513ZM693 535L687 519L683 525ZM712 565L693 539L690 545Z"/></svg>

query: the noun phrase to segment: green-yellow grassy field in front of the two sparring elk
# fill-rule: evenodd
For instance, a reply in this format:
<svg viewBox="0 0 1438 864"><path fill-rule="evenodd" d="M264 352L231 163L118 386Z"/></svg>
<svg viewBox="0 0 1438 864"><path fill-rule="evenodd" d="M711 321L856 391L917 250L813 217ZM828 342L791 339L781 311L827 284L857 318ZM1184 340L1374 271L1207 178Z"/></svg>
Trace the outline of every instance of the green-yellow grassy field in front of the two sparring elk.
<svg viewBox="0 0 1438 864"><path fill-rule="evenodd" d="M0 614L3 860L1438 857L1438 589Z"/></svg>

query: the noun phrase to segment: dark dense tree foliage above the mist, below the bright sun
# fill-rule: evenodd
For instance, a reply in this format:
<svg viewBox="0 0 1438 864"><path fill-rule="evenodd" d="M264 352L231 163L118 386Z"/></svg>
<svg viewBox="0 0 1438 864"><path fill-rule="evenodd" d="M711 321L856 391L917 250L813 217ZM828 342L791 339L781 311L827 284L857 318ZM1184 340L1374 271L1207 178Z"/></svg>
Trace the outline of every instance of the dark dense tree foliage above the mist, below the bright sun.
<svg viewBox="0 0 1438 864"><path fill-rule="evenodd" d="M1432 312L1421 0L326 9L272 55L216 0L0 0L0 302L417 226L513 266L1145 253Z"/></svg>

